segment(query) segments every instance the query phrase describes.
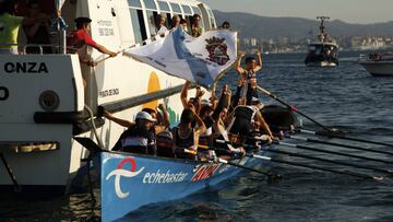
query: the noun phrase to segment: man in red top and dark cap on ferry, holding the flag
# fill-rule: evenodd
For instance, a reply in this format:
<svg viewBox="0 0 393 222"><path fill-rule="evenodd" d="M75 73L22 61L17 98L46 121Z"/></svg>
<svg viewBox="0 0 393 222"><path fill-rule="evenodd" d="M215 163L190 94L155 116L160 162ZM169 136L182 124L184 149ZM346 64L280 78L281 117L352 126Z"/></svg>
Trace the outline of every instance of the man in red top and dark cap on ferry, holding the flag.
<svg viewBox="0 0 393 222"><path fill-rule="evenodd" d="M115 51L111 51L107 49L106 47L97 44L93 40L91 36L88 36L88 32L91 28L92 20L88 17L76 17L76 30L73 31L68 37L67 37L67 47L69 52L79 52L81 48L85 45L92 46L93 48L97 49L98 51L103 54L107 54L110 57L116 57L118 54ZM80 60L82 63L85 63L87 66L94 67L96 63L94 61L91 61L88 59L85 59L83 56L80 55Z"/></svg>

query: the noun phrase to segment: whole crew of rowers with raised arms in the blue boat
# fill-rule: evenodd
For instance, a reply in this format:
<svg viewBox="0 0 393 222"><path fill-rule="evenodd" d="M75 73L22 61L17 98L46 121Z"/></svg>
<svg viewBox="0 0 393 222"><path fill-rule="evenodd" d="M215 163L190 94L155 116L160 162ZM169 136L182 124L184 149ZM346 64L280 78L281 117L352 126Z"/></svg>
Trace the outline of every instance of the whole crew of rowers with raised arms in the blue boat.
<svg viewBox="0 0 393 222"><path fill-rule="evenodd" d="M238 59L243 56L239 54ZM187 81L180 92L183 110L175 127L170 126L163 104L156 109L144 108L136 114L134 122L105 110L107 119L128 128L112 151L198 160L205 150L229 157L245 153L241 144L255 144L260 140L255 138L264 138L266 142L278 140L261 113L263 104L255 90L255 72L262 68L262 60L259 54L258 57L258 62L247 57L245 68L238 63L239 83L234 95L225 84L218 97L213 89L210 98L203 98L205 91L199 86L195 95L189 97L191 82Z"/></svg>

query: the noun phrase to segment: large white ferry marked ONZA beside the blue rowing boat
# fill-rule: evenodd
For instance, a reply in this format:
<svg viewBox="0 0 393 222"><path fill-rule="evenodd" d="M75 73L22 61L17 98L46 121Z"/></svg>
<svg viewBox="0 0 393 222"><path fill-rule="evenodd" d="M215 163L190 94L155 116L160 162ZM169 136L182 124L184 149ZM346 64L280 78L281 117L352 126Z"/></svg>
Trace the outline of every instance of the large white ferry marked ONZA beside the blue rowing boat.
<svg viewBox="0 0 393 222"><path fill-rule="evenodd" d="M212 10L195 0L40 2L53 12L56 8L61 10L69 25L67 32L74 30L75 17L92 19L91 36L112 51L148 43L154 30L152 21L158 14L167 22L177 14L189 24L193 14L200 14L205 31L216 27ZM58 54L0 55L0 187L64 190L88 155L73 137L96 140L97 133L103 147L110 149L124 130L98 118L98 106L117 117L133 119L142 107L165 103L171 122L182 110L178 93L184 80L121 54L104 59L103 54L90 47L87 56L102 62L87 67L78 55L59 50L66 47L66 40L62 32L58 35Z"/></svg>

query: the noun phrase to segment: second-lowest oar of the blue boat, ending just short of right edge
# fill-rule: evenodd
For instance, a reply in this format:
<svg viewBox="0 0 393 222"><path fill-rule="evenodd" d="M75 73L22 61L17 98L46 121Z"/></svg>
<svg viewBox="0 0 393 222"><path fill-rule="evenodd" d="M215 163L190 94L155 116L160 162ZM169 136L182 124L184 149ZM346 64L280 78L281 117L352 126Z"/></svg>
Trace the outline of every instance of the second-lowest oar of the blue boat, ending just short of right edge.
<svg viewBox="0 0 393 222"><path fill-rule="evenodd" d="M366 178L366 179L372 179L372 180L382 180L383 179L383 177L381 177L381 176L370 176L370 175L358 174L358 173L354 173L354 172L344 172L344 171L336 171L336 170L332 170L332 168L323 168L323 167L314 166L314 165L307 165L307 164L302 164L302 163L295 163L295 162L284 161L284 160L275 160L275 159L264 156L264 155L248 154L248 156L261 159L264 161L283 163L283 164L287 164L287 165L300 166L300 167L305 167L305 168L312 168L312 170L331 172L331 173L335 173L335 174L343 174L343 175L348 175L348 176L358 177L358 178Z"/></svg>

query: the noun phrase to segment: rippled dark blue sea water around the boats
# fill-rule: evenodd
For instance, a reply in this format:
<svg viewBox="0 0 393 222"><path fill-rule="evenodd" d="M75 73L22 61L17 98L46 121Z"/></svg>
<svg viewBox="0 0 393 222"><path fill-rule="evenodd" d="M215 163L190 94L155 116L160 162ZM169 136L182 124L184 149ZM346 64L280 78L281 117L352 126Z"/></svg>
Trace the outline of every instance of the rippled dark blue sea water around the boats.
<svg viewBox="0 0 393 222"><path fill-rule="evenodd" d="M302 63L303 56L264 56L260 84L319 121L349 131L352 137L393 143L393 78L372 78L353 62L357 54L343 52L336 68L307 68ZM237 74L230 72L222 82L233 83L236 79ZM269 98L263 101L273 103ZM313 127L306 120L303 122ZM332 141L393 152L393 148ZM392 160L392 156L325 148ZM389 164L293 151L392 168ZM350 170L297 157L282 159ZM279 173L283 179L269 183L258 174L243 173L184 199L146 206L121 221L393 221L393 183L390 178L372 182L278 164L273 165L272 171ZM370 171L353 171L378 175ZM7 198L5 195L0 199L0 221L73 221L92 215L87 194L62 198ZM99 215L98 207L93 214Z"/></svg>

